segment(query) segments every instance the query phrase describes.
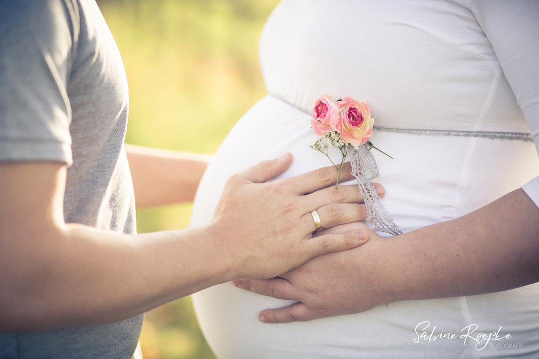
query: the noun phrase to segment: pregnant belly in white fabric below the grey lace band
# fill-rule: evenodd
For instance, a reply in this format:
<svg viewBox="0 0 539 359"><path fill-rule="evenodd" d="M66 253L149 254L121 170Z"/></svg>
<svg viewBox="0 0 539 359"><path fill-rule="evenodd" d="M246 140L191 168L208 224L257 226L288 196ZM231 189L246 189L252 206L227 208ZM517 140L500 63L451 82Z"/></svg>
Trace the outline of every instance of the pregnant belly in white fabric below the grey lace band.
<svg viewBox="0 0 539 359"><path fill-rule="evenodd" d="M206 170L191 224L208 223L229 175L262 159L291 152L293 164L282 177L330 165L326 157L309 148L316 139L309 118L271 97L248 111ZM382 131L374 131L372 142L393 157L374 153L381 173L376 181L386 189L385 208L405 232L471 212L539 173L535 147L523 142L506 140L500 144L491 139ZM338 151L333 155L340 159ZM530 163L535 166L530 167ZM539 336L539 307L534 305L530 311L530 300L537 294L537 286L528 286L471 298L395 302L366 313L284 325L261 323L258 313L291 301L246 292L230 283L192 298L204 335L221 359L476 358L478 351L470 341L464 345L459 339L425 340L418 337L421 330L418 334L417 326L429 321L432 324L424 332L431 333L436 326L436 330L459 337L468 325L495 332L500 326L531 322L531 315L535 324L521 333L521 339L533 353L539 348L539 339L532 339L534 333ZM474 323L475 318L480 322ZM494 349L480 353L481 357L500 354Z"/></svg>

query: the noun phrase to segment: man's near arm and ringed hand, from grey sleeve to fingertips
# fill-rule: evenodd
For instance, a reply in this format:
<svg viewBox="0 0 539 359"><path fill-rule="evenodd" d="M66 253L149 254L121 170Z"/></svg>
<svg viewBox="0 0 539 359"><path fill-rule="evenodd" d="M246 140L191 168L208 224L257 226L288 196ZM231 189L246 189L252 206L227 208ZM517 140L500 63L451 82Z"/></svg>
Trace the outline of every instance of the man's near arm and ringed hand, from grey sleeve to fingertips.
<svg viewBox="0 0 539 359"><path fill-rule="evenodd" d="M291 161L286 154L233 175L207 226L139 236L65 223L64 164L1 164L0 330L118 321L211 285L277 276L364 243L357 230L311 238L311 210L326 227L365 212L353 203L360 201L355 187L326 188L337 179L333 167L265 183Z"/></svg>

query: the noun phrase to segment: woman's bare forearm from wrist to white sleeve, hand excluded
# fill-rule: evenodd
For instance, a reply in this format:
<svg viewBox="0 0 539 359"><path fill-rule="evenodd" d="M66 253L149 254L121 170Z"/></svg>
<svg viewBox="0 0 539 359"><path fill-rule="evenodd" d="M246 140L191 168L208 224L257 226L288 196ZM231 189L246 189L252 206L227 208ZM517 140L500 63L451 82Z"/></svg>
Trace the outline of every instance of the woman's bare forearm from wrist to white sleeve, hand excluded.
<svg viewBox="0 0 539 359"><path fill-rule="evenodd" d="M539 280L539 209L521 189L459 219L369 244L378 256L364 278L380 288L383 302L483 294Z"/></svg>

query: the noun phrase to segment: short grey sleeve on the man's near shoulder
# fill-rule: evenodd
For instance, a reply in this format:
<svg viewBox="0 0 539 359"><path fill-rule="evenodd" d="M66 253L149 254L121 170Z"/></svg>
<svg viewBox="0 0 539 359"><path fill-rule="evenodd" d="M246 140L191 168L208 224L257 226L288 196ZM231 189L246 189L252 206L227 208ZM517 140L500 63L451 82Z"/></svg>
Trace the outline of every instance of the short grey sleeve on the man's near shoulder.
<svg viewBox="0 0 539 359"><path fill-rule="evenodd" d="M0 0L0 161L71 165L76 15L63 0Z"/></svg>

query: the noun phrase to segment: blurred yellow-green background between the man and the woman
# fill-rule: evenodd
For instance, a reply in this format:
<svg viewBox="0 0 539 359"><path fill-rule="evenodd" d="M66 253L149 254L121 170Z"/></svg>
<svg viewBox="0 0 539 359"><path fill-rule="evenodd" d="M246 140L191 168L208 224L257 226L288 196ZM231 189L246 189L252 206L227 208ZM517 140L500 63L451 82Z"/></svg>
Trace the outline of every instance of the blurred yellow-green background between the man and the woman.
<svg viewBox="0 0 539 359"><path fill-rule="evenodd" d="M98 0L129 82L126 142L213 154L266 94L258 37L279 0ZM137 210L139 233L185 228L191 204ZM145 359L215 358L190 298L150 311Z"/></svg>

